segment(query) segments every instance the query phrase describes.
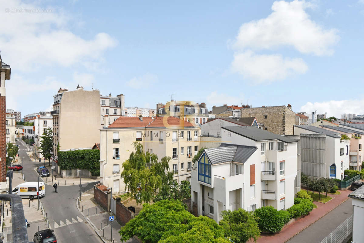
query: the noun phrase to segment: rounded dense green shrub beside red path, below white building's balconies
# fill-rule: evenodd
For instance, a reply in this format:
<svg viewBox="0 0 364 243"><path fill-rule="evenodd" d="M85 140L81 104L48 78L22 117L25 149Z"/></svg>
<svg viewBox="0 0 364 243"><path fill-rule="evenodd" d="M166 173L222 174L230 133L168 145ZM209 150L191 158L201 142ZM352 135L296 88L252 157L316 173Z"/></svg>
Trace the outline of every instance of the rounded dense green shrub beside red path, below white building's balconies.
<svg viewBox="0 0 364 243"><path fill-rule="evenodd" d="M287 211L277 211L272 206L261 207L254 211L254 216L261 231L276 233L282 230L285 223L290 220L290 213Z"/></svg>

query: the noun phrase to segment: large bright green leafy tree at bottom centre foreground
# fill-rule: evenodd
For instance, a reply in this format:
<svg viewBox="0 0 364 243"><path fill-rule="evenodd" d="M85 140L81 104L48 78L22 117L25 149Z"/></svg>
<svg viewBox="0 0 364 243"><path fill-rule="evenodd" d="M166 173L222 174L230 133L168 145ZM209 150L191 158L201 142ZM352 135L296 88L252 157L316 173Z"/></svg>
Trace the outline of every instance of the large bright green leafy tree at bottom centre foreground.
<svg viewBox="0 0 364 243"><path fill-rule="evenodd" d="M151 205L145 203L139 214L121 227L119 234L121 241L136 235L145 243L157 243L165 232L177 235L187 230L187 224L194 218L179 200L161 200Z"/></svg>

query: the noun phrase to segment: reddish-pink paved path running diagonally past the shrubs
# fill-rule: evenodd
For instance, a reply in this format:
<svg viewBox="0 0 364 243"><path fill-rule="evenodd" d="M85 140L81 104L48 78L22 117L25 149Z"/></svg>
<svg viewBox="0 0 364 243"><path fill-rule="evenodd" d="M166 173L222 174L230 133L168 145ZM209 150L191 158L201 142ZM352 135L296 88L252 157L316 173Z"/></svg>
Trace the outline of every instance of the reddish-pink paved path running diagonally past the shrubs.
<svg viewBox="0 0 364 243"><path fill-rule="evenodd" d="M302 219L296 221L293 224L285 227L283 230L278 232L277 234L261 234L261 238L257 240L257 243L283 243L292 238L293 236L297 235L299 232L319 220L321 217L325 216L327 213L335 209L341 203L349 199L348 195L352 192L350 190L347 191L339 191L341 192L340 195L332 195L328 194L328 196L332 197L330 201L327 203L319 203L314 201L317 205L316 209L313 209L309 215L303 217ZM323 193L325 196L325 193ZM324 227L324 226L323 226ZM251 242L251 241L250 241Z"/></svg>

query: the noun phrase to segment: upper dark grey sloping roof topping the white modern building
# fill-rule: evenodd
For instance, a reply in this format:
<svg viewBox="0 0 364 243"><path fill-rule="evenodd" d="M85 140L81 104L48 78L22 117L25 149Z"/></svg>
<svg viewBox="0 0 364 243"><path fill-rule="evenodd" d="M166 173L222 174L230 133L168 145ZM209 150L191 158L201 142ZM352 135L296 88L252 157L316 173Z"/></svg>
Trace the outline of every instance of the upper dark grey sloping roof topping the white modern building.
<svg viewBox="0 0 364 243"><path fill-rule="evenodd" d="M297 142L288 137L280 136L278 134L255 128L253 126L225 126L222 128L230 132L240 134L241 136L250 138L254 141L279 140L286 143Z"/></svg>

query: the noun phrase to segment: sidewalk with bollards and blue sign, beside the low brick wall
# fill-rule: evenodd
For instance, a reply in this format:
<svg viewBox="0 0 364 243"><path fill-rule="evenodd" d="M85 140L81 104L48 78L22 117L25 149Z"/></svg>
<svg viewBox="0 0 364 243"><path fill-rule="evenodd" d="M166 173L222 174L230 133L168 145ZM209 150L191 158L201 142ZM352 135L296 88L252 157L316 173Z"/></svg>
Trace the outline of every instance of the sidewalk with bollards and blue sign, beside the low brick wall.
<svg viewBox="0 0 364 243"><path fill-rule="evenodd" d="M76 207L79 209L80 213L82 213L87 222L90 223L91 227L94 228L96 234L100 236L103 242L122 242L120 241L119 235L119 230L121 228L120 224L116 221L116 219L112 222L112 224L108 222L110 214L107 213L103 208L100 207L100 205L95 202L94 189L90 189L82 194L79 207L78 200L76 203ZM111 231L112 240L114 241L111 240ZM139 243L139 241L131 238L127 241L124 241L123 243Z"/></svg>

